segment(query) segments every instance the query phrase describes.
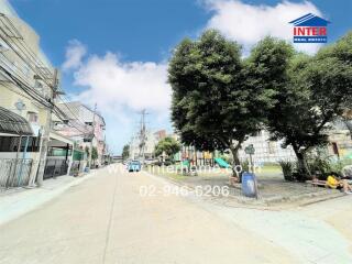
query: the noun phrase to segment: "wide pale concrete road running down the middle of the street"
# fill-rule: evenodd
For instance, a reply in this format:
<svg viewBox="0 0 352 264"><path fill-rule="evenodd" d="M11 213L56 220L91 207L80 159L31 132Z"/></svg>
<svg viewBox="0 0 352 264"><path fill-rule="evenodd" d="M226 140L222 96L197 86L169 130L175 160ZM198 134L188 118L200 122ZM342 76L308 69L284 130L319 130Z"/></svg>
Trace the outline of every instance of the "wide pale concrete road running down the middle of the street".
<svg viewBox="0 0 352 264"><path fill-rule="evenodd" d="M109 173L70 187L0 227L1 264L299 263L265 235L179 196L143 197L165 183Z"/></svg>

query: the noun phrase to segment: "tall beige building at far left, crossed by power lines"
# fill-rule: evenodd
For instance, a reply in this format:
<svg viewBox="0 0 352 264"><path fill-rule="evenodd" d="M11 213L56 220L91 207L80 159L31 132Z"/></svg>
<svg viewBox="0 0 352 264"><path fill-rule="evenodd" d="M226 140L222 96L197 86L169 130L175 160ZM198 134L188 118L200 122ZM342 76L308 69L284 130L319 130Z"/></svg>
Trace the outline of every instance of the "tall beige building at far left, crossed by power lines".
<svg viewBox="0 0 352 264"><path fill-rule="evenodd" d="M0 130L0 186L19 186L36 176L54 68L40 47L40 36L8 1L0 1L0 122L9 124ZM13 120L29 130L19 129ZM50 148L59 147L63 158L52 165L47 162L44 177L66 174L73 141L51 132L48 144Z"/></svg>

